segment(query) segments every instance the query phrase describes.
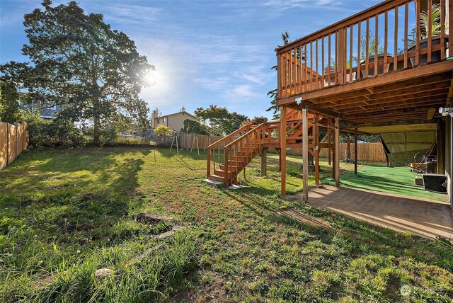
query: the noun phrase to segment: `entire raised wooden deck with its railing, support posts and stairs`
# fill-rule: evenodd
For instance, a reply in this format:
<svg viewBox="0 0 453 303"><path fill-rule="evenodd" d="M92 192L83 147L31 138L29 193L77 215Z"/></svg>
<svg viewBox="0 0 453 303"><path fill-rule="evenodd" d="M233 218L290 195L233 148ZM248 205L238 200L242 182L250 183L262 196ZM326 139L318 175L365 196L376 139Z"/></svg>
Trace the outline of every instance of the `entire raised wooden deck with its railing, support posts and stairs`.
<svg viewBox="0 0 453 303"><path fill-rule="evenodd" d="M452 13L453 0L388 0L277 48L280 122L245 126L212 144L207 177L237 183L239 171L258 154L265 171L265 150L275 147L285 196L286 149L302 147L307 201L308 166L314 165L319 185L321 149L328 149L340 184L340 132L353 134L357 149L360 134L438 129L437 108L453 99ZM439 171L444 164L438 161Z"/></svg>

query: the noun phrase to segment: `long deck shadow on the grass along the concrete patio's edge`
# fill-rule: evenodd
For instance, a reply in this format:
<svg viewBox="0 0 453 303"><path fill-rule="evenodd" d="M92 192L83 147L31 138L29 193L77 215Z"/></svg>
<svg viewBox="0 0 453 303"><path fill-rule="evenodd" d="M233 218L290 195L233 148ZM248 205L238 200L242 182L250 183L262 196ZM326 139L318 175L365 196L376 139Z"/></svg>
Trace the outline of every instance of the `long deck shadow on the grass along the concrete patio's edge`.
<svg viewBox="0 0 453 303"><path fill-rule="evenodd" d="M382 182L387 181L383 178ZM321 210L299 201L288 202L278 198L277 191L256 184L253 187L236 191L222 188L222 192L253 212L254 215L275 224L297 226L299 229L309 231L311 236L324 244L331 244L338 236L348 239L350 242L348 251L352 256L362 256L363 253L405 256L430 265L440 265L447 270L453 269L451 262L453 251L448 248L448 244L442 243L442 241L432 241L414 234L398 233L328 210ZM308 215L326 219L331 223L332 228L299 222L279 212L286 208L295 208Z"/></svg>

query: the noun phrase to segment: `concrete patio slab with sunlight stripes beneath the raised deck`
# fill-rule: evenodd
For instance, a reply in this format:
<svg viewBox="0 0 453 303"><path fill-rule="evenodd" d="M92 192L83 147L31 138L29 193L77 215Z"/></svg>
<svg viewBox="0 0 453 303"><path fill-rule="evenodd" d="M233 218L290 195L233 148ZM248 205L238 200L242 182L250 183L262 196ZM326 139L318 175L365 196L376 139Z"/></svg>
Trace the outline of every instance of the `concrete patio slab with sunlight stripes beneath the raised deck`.
<svg viewBox="0 0 453 303"><path fill-rule="evenodd" d="M325 185L309 190L308 203L396 231L453 241L453 219L447 202Z"/></svg>

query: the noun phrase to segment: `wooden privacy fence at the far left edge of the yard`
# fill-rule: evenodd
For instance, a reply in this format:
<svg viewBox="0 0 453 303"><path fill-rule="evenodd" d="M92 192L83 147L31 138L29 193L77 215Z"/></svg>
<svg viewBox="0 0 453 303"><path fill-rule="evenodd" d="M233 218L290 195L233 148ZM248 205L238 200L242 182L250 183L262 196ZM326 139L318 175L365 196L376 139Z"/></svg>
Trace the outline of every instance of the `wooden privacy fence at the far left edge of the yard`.
<svg viewBox="0 0 453 303"><path fill-rule="evenodd" d="M28 147L28 125L26 122L11 125L0 122L0 169L10 164Z"/></svg>

